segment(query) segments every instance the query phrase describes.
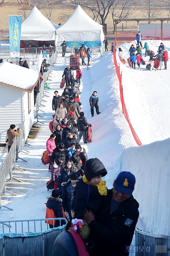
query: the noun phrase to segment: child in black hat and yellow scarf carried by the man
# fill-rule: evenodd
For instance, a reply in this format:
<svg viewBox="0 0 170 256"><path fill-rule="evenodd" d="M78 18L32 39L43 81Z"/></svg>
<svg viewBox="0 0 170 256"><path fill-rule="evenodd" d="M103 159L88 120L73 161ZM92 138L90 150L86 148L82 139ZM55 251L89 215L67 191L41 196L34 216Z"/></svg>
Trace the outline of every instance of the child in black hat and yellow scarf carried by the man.
<svg viewBox="0 0 170 256"><path fill-rule="evenodd" d="M90 228L83 220L84 210L87 207L92 211L97 211L103 201L103 196L107 196L106 181L101 178L107 174L103 163L97 159L89 159L84 168L83 178L77 182L75 198L72 202L73 228L80 230L83 239L88 238Z"/></svg>

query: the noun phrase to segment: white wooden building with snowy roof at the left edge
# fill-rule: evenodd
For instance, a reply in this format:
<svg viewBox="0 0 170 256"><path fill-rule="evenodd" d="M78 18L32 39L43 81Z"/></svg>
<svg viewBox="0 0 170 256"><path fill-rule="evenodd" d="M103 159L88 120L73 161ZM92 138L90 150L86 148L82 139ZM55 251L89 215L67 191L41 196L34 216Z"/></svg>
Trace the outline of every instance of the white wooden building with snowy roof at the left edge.
<svg viewBox="0 0 170 256"><path fill-rule="evenodd" d="M41 73L9 62L0 63L0 144L11 124L24 121L26 140L34 122L34 87Z"/></svg>

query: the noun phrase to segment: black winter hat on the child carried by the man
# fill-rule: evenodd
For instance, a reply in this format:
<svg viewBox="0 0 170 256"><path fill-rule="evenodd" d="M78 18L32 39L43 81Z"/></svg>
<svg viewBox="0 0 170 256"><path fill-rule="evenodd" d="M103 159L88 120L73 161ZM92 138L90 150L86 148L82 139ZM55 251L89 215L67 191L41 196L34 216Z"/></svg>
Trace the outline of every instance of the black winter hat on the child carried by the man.
<svg viewBox="0 0 170 256"><path fill-rule="evenodd" d="M104 164L97 158L89 159L84 168L84 175L90 181L94 176L101 174L104 177L107 174Z"/></svg>

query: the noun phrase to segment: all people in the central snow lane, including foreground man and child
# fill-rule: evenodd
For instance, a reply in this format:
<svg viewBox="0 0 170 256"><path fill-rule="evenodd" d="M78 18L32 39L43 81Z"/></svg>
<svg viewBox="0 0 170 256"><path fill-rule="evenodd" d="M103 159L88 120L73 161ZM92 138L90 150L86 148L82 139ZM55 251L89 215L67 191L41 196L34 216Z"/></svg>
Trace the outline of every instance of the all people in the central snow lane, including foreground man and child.
<svg viewBox="0 0 170 256"><path fill-rule="evenodd" d="M113 251L119 251L116 255L124 255L125 245L131 243L139 215L139 205L132 196L135 178L125 172L123 177L117 177L114 181L114 188L108 190L106 181L102 179L107 174L105 166L99 159L88 160L80 140L83 137L84 144L87 143L87 127L92 124L88 123L75 83L71 82L74 72L70 66L64 70L66 87L61 96L55 91L52 100L52 109L55 111L53 133L47 140L46 147L50 157L49 172L53 191L47 197L46 218L67 218L69 222L66 229L74 230L83 239L90 238L93 241L94 246L90 251L92 256L96 252L99 256L105 252L112 255L110 253ZM77 69L76 75L77 73L77 82L80 84L81 70ZM97 115L101 113L98 104L99 97L94 91L89 98L92 117L94 107ZM122 213L124 217L121 217ZM107 221L103 221L102 216ZM57 226L59 222L56 221L54 227ZM53 223L50 227L53 227ZM99 232L100 227L102 232ZM110 243L110 239L115 239L115 242Z"/></svg>

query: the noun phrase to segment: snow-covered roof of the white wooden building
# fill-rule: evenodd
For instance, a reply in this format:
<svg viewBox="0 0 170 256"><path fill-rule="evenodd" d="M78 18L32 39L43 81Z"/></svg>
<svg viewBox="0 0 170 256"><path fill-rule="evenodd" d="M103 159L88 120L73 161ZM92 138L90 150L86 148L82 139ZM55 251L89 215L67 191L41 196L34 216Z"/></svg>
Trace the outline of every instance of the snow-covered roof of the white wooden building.
<svg viewBox="0 0 170 256"><path fill-rule="evenodd" d="M0 84L31 93L41 73L9 62L0 63Z"/></svg>

